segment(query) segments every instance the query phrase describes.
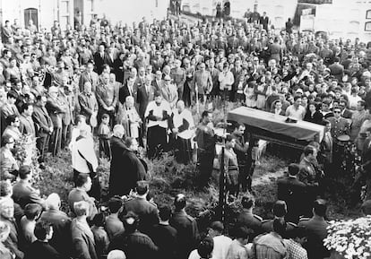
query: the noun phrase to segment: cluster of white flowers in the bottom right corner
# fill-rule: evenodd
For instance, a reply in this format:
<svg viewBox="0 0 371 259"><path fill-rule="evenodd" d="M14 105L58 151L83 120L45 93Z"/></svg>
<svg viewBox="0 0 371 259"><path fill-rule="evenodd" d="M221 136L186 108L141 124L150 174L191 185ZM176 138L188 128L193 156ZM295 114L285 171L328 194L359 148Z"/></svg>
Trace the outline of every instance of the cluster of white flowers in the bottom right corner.
<svg viewBox="0 0 371 259"><path fill-rule="evenodd" d="M324 246L346 259L371 258L371 215L357 220L332 220Z"/></svg>

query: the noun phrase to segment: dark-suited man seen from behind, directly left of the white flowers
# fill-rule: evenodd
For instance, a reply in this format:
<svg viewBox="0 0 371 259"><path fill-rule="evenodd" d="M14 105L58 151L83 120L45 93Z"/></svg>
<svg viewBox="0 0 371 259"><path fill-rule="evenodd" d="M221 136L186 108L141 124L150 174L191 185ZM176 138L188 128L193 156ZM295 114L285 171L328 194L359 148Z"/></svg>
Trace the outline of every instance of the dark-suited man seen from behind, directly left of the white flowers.
<svg viewBox="0 0 371 259"><path fill-rule="evenodd" d="M322 199L316 200L311 219L300 219L298 227L306 229L306 251L309 259L323 259L330 256L330 252L324 246L324 238L327 237L329 223L324 220L327 205Z"/></svg>

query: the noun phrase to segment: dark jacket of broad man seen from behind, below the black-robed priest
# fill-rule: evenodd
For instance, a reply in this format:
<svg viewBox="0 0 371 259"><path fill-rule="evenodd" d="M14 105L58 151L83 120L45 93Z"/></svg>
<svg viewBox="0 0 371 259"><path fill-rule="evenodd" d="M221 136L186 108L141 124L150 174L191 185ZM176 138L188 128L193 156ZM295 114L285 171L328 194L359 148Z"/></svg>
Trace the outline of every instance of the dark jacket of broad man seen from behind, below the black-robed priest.
<svg viewBox="0 0 371 259"><path fill-rule="evenodd" d="M154 225L159 223L157 207L145 198L137 197L124 204L125 212L134 212L139 216L139 230L149 235Z"/></svg>

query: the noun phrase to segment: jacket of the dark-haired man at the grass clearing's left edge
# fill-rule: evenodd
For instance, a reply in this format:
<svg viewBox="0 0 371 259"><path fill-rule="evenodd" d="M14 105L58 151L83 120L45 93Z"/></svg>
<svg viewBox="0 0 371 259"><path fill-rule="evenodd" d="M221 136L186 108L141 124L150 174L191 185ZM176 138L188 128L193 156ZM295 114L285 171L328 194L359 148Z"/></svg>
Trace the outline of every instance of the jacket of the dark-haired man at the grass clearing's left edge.
<svg viewBox="0 0 371 259"><path fill-rule="evenodd" d="M28 203L38 203L45 208L45 201L29 183L20 180L13 186L13 200L24 209Z"/></svg>

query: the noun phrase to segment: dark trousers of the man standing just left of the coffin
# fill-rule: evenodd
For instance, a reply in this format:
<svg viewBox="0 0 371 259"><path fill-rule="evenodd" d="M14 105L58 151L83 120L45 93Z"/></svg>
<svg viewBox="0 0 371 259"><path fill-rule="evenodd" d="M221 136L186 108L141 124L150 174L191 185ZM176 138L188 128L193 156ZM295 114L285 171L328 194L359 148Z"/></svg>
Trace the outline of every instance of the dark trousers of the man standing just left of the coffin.
<svg viewBox="0 0 371 259"><path fill-rule="evenodd" d="M215 154L213 151L198 151L199 185L207 186L212 174Z"/></svg>

